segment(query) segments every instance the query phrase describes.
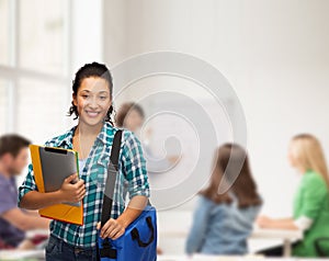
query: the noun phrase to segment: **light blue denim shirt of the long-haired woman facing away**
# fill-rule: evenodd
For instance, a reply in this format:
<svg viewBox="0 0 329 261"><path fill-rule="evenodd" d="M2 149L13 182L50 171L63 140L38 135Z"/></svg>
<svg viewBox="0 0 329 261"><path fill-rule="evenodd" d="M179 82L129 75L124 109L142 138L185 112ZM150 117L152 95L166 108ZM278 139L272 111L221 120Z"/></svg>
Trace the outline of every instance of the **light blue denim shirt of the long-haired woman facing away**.
<svg viewBox="0 0 329 261"><path fill-rule="evenodd" d="M245 254L247 238L260 206L239 208L237 202L216 204L200 196L186 241L186 253Z"/></svg>

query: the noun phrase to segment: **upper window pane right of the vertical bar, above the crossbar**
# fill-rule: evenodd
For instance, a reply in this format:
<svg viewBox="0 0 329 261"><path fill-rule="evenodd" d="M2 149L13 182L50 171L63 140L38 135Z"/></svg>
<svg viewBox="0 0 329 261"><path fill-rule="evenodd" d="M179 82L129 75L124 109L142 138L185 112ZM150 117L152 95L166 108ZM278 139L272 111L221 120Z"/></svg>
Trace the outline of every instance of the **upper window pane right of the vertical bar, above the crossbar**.
<svg viewBox="0 0 329 261"><path fill-rule="evenodd" d="M66 1L21 0L19 63L22 68L66 75Z"/></svg>

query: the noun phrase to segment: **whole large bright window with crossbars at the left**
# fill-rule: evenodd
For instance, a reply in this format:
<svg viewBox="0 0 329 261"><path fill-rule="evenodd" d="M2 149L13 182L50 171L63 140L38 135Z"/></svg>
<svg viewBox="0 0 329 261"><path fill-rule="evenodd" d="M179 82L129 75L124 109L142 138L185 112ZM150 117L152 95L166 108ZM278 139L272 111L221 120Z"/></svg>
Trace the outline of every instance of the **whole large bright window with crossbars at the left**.
<svg viewBox="0 0 329 261"><path fill-rule="evenodd" d="M0 134L44 143L66 129L70 0L0 0Z"/></svg>

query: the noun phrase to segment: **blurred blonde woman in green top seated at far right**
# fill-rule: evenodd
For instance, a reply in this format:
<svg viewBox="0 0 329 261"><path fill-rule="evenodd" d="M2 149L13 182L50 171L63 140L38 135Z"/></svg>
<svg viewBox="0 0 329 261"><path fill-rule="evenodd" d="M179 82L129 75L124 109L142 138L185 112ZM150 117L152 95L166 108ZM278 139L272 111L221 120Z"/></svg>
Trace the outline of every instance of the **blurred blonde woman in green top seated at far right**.
<svg viewBox="0 0 329 261"><path fill-rule="evenodd" d="M329 236L329 178L320 143L309 134L295 136L290 144L288 160L302 174L293 217L273 219L260 216L258 225L263 228L302 229L304 238L293 247L293 254L316 257L315 241ZM262 253L282 256L283 248L269 249Z"/></svg>

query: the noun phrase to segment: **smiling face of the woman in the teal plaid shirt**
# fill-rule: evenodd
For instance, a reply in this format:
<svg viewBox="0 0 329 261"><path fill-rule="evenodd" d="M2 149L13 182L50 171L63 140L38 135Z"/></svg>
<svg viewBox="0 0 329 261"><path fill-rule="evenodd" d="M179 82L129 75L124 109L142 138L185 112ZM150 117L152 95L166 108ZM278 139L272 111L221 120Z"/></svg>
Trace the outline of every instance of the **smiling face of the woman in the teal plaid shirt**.
<svg viewBox="0 0 329 261"><path fill-rule="evenodd" d="M112 104L110 87L105 79L88 77L81 81L73 104L78 109L79 121L94 126L103 122Z"/></svg>

